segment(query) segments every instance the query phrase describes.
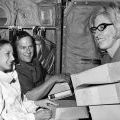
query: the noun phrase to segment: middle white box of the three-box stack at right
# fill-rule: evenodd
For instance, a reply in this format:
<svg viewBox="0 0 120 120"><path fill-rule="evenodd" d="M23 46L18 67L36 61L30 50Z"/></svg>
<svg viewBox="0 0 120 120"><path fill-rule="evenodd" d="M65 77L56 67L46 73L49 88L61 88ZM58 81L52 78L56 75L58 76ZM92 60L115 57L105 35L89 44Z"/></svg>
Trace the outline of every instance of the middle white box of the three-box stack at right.
<svg viewBox="0 0 120 120"><path fill-rule="evenodd" d="M77 106L120 103L120 83L76 88Z"/></svg>

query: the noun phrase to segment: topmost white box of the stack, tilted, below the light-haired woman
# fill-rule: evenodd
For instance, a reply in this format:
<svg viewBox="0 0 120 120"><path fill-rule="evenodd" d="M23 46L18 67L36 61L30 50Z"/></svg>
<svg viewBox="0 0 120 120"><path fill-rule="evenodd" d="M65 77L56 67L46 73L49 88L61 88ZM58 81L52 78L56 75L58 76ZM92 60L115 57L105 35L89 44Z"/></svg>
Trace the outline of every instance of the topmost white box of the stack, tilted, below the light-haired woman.
<svg viewBox="0 0 120 120"><path fill-rule="evenodd" d="M108 63L71 75L73 87L82 84L104 84L120 81L120 62Z"/></svg>

